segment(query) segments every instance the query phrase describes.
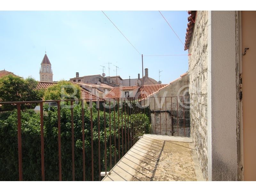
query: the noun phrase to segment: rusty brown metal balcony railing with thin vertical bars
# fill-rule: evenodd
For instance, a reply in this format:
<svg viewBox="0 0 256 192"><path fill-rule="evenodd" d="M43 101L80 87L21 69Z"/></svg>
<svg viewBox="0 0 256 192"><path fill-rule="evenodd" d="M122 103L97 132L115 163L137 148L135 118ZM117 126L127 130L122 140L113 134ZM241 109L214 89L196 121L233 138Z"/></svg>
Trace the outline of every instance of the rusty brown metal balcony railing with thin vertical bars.
<svg viewBox="0 0 256 192"><path fill-rule="evenodd" d="M97 99L97 100L47 100L47 101L20 101L20 102L1 102L1 105L16 105L17 106L17 128L18 128L18 162L19 162L19 180L23 180L22 174L22 139L21 139L21 106L23 104L39 104L40 105L40 130L41 130L41 175L42 180L45 180L45 164L44 164L44 103L57 103L57 121L58 121L58 159L59 159L59 180L62 180L62 163L61 163L61 107L70 106L71 111L71 140L72 140L72 180L75 180L75 139L74 139L74 105L80 103L82 105L82 155L83 155L83 180L85 181L85 119L84 107L88 103L90 110L90 128L91 128L91 169L92 181L94 180L94 167L98 166L99 180L101 180L101 162L104 158L104 171L107 174L107 160L109 161L109 169L112 169L112 163L116 164L127 151L140 139L145 133L165 134L182 136L179 132L181 127L179 122L183 120L184 136L189 136L186 132L185 121L187 118L186 111L189 114L189 104L184 104L189 97L154 97L154 98L111 98L111 99ZM175 101L174 101L175 100ZM93 110L92 103L96 104L96 113L98 115L97 125L93 124ZM154 103L154 104L153 104ZM142 105L143 104L143 105ZM175 107L175 109L174 109ZM181 113L183 111L183 113ZM104 114L104 157L101 157L100 144L100 113ZM162 113L164 113L164 118ZM151 127L143 122L143 114L149 117ZM144 116L145 116L144 115ZM106 117L109 122L106 126ZM111 119L111 116L113 118ZM176 118L176 121L175 121ZM113 121L112 121L113 120ZM165 124L163 124L165 121ZM113 124L112 124L113 123ZM94 151L93 151L93 126L98 126L98 165L94 165ZM163 129L163 126L165 130ZM188 127L189 128L189 127ZM107 146L107 129L109 129L109 146ZM112 130L114 129L114 130ZM147 131L149 130L149 131ZM159 130L159 131L158 131ZM163 130L165 132L163 132ZM169 130L171 130L169 132ZM177 134L175 133L175 130ZM112 134L114 132L114 134ZM114 140L114 156L112 159L112 140ZM109 157L107 157L107 149L109 150ZM118 154L118 155L117 155Z"/></svg>

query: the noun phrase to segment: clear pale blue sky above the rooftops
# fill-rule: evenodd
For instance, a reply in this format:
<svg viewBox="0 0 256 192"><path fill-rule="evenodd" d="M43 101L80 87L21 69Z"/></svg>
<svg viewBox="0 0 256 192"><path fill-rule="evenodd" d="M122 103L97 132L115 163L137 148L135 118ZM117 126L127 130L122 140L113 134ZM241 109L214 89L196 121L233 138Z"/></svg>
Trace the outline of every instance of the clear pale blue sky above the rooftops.
<svg viewBox="0 0 256 192"><path fill-rule="evenodd" d="M143 55L188 54L158 11L105 11L134 47ZM185 41L186 11L162 11ZM0 70L39 80L46 48L53 80L69 80L101 74L108 62L110 76L117 65L123 79L142 75L141 55L101 11L0 12ZM188 56L143 57L149 76L169 83L188 70ZM140 76L141 76L140 75Z"/></svg>

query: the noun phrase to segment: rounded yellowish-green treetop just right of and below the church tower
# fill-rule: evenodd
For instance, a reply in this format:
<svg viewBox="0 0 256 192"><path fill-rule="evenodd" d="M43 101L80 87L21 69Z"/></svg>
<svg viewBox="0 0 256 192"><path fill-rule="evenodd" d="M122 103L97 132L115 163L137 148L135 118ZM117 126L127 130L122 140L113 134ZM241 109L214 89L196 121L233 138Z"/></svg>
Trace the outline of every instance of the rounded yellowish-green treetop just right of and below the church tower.
<svg viewBox="0 0 256 192"><path fill-rule="evenodd" d="M81 88L69 81L59 81L57 84L48 87L44 93L44 100L61 100L81 98Z"/></svg>

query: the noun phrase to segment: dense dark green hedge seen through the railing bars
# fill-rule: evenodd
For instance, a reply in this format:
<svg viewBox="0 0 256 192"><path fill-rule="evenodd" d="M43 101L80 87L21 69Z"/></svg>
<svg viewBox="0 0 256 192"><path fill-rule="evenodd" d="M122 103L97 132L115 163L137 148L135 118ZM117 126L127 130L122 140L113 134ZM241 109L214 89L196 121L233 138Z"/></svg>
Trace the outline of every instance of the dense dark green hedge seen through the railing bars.
<svg viewBox="0 0 256 192"><path fill-rule="evenodd" d="M46 109L47 107L45 107ZM118 145L118 116L116 112L116 146ZM126 111L127 112L127 111ZM120 113L120 152L122 156L121 133L121 109ZM61 108L61 162L62 180L72 180L72 140L71 140L71 110ZM127 113L126 121L128 121ZM149 132L149 118L140 114L140 118L131 121L129 115L129 128L136 125L146 133ZM114 166L114 109L111 109L111 144L112 166ZM94 180L99 180L98 166L98 111L93 104L93 160ZM124 113L123 113L124 124ZM91 123L90 110L84 108L85 129L85 172L86 180L92 180L91 168ZM128 129L126 130L128 134ZM136 130L135 130L136 132ZM107 171L109 171L109 113L106 109L106 133L107 133ZM22 137L22 164L23 180L42 180L41 178L41 140L40 140L40 115L33 110L21 112L21 137ZM74 108L74 135L75 135L75 180L83 180L83 156L82 156L82 107ZM128 136L127 138L128 139ZM18 141L17 141L17 110L0 114L0 180L18 180ZM125 143L125 141L124 141ZM128 141L127 141L128 144ZM101 171L104 168L104 112L100 110L100 163ZM125 153L125 149L124 149ZM118 159L118 147L116 147ZM48 116L44 116L44 162L45 180L59 180L58 159L58 118L57 108L52 107Z"/></svg>

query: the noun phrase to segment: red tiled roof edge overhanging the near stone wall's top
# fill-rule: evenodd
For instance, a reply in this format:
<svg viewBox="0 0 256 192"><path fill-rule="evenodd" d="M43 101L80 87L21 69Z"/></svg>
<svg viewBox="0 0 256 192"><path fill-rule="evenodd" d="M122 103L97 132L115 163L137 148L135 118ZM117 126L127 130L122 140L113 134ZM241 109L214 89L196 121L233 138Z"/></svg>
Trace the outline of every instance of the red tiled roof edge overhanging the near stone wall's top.
<svg viewBox="0 0 256 192"><path fill-rule="evenodd" d="M186 51L189 48L190 40L193 35L194 31L194 23L196 21L196 11L188 11L188 28L186 33L186 40L185 40L185 47L184 50Z"/></svg>

